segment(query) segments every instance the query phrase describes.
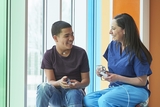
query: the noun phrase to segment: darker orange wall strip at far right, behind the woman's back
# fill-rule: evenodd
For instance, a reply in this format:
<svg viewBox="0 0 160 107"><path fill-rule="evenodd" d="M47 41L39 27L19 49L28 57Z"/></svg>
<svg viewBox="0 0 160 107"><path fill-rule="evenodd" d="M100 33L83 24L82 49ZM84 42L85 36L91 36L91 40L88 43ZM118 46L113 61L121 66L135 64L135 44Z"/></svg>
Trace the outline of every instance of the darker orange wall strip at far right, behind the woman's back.
<svg viewBox="0 0 160 107"><path fill-rule="evenodd" d="M160 107L160 0L150 0L150 52L153 57L150 107Z"/></svg>

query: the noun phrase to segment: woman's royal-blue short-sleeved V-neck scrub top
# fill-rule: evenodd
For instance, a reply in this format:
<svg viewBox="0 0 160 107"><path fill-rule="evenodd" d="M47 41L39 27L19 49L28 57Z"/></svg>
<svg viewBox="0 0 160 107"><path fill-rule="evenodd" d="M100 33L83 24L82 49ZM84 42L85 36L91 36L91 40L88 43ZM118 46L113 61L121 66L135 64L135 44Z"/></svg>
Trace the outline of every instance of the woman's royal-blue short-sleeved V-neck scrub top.
<svg viewBox="0 0 160 107"><path fill-rule="evenodd" d="M127 48L125 48L126 50ZM151 75L152 71L147 60L143 63L138 59L138 57L133 53L132 57L129 60L129 55L126 51L121 52L121 44L116 41L111 41L108 45L107 50L104 53L104 58L108 61L108 70L111 73L126 77L139 77L143 75ZM145 54L142 52L143 58L146 59ZM116 83L110 83L110 86L126 84L123 82L117 81ZM142 87L148 90L147 88L148 81L146 86L137 86ZM149 90L148 90L149 91Z"/></svg>

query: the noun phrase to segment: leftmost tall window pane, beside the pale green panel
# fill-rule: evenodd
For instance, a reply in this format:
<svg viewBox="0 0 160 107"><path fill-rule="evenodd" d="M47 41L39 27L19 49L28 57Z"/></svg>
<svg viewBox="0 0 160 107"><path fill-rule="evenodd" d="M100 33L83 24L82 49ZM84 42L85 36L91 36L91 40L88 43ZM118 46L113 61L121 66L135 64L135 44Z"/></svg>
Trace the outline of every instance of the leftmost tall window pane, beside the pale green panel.
<svg viewBox="0 0 160 107"><path fill-rule="evenodd" d="M36 87L42 82L43 0L28 0L27 107L36 107Z"/></svg>

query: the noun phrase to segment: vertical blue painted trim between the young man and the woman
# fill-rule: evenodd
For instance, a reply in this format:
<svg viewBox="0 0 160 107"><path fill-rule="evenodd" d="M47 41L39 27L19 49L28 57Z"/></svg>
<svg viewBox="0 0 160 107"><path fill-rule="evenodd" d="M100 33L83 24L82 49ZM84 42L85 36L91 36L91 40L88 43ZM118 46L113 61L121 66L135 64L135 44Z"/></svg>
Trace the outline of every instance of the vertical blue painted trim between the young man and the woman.
<svg viewBox="0 0 160 107"><path fill-rule="evenodd" d="M90 85L87 93L100 89L100 78L95 73L101 63L101 0L88 0L88 57L90 65Z"/></svg>

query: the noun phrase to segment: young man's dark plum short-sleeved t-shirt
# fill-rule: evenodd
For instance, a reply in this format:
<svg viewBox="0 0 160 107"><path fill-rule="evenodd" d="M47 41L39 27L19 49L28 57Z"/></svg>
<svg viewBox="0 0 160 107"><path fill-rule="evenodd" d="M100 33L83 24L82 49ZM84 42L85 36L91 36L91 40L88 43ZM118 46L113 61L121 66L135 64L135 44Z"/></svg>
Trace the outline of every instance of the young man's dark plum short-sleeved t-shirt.
<svg viewBox="0 0 160 107"><path fill-rule="evenodd" d="M63 76L81 81L81 73L89 72L88 56L86 51L73 45L68 57L61 56L56 46L47 50L42 60L42 69L53 69L56 80Z"/></svg>

